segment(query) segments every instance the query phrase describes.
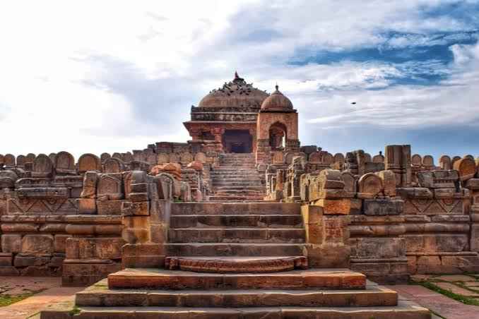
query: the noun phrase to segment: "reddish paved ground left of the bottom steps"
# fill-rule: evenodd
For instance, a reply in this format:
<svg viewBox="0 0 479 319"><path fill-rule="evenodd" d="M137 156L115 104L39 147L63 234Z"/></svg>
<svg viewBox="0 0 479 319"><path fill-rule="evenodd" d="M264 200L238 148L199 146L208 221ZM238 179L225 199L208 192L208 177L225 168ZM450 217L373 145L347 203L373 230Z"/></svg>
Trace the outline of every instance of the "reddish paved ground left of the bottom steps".
<svg viewBox="0 0 479 319"><path fill-rule="evenodd" d="M61 287L61 277L0 277L1 295L16 296L41 291L27 299L0 308L0 318L24 319L39 313L48 303L69 301L83 287Z"/></svg>

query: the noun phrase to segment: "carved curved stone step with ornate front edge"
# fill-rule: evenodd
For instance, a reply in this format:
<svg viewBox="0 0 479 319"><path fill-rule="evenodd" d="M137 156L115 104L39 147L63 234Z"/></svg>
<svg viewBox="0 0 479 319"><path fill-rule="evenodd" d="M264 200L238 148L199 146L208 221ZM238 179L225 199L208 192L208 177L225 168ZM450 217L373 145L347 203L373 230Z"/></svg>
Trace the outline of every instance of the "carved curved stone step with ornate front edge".
<svg viewBox="0 0 479 319"><path fill-rule="evenodd" d="M191 272L285 272L307 269L305 256L276 257L167 257L165 268Z"/></svg>

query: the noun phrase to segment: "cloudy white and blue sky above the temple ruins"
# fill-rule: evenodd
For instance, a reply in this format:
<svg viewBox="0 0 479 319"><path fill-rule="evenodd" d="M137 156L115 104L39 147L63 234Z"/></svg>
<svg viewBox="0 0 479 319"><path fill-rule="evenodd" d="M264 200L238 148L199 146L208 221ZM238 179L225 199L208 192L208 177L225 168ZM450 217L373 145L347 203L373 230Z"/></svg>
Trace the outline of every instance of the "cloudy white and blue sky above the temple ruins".
<svg viewBox="0 0 479 319"><path fill-rule="evenodd" d="M7 1L0 153L184 142L237 70L279 83L302 145L477 156L478 37L479 1Z"/></svg>

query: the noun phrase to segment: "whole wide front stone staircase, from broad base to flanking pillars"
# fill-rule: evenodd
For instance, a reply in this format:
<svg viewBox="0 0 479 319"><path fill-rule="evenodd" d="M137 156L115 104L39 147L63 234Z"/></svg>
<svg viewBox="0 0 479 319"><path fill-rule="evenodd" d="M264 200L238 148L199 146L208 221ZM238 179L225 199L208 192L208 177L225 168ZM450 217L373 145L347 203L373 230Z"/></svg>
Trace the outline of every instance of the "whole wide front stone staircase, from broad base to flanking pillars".
<svg viewBox="0 0 479 319"><path fill-rule="evenodd" d="M52 318L430 318L346 269L307 269L300 205L175 203L166 269L125 269Z"/></svg>

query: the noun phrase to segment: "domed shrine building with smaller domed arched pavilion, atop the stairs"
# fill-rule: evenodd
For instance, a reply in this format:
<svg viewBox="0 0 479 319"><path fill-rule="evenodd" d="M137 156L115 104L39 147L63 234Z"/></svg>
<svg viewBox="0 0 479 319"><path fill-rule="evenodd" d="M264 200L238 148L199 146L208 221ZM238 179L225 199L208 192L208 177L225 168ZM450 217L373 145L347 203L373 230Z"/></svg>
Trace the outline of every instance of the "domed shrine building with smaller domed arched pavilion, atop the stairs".
<svg viewBox="0 0 479 319"><path fill-rule="evenodd" d="M274 151L299 152L292 102L278 85L270 95L237 73L191 107L191 120L184 126L193 143L215 145L223 153L256 153L256 162L269 162Z"/></svg>

